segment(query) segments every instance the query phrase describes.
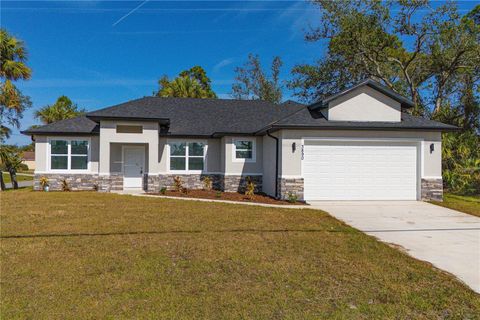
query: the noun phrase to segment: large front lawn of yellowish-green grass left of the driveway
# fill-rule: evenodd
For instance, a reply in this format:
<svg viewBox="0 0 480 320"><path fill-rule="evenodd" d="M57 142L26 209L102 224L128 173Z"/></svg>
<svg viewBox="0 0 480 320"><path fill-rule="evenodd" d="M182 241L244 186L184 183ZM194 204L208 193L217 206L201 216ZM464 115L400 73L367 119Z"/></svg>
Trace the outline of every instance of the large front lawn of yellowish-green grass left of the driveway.
<svg viewBox="0 0 480 320"><path fill-rule="evenodd" d="M310 209L0 194L1 319L474 319L452 276Z"/></svg>

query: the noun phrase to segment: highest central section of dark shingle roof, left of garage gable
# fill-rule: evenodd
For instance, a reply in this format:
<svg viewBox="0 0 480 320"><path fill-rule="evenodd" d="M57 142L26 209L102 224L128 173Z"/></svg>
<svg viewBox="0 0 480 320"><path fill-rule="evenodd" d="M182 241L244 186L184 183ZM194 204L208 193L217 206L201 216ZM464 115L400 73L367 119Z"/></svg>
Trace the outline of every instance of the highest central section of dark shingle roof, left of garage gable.
<svg viewBox="0 0 480 320"><path fill-rule="evenodd" d="M294 102L276 105L260 100L145 97L90 112L92 119L169 119L171 135L253 134L304 108Z"/></svg>

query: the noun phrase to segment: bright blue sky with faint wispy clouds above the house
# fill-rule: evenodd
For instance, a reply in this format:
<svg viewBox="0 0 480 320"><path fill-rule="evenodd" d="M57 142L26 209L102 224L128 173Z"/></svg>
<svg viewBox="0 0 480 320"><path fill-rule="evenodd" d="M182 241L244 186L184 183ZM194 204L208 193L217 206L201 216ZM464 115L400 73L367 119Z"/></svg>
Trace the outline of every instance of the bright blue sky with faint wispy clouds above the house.
<svg viewBox="0 0 480 320"><path fill-rule="evenodd" d="M478 2L459 3L462 13ZM151 95L163 74L201 65L213 89L228 98L234 68L249 53L265 66L275 55L282 77L325 53L304 30L318 21L310 3L295 1L0 1L0 24L25 41L32 79L18 84L36 109L60 95L95 110ZM290 95L286 92L286 97ZM14 130L7 143L27 144Z"/></svg>

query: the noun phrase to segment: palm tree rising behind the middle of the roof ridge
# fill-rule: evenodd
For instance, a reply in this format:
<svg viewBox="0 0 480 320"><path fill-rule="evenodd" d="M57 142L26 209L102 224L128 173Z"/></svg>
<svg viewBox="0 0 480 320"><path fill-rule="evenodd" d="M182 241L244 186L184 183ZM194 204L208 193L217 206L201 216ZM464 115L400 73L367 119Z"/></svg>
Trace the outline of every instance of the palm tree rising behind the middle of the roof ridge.
<svg viewBox="0 0 480 320"><path fill-rule="evenodd" d="M159 92L160 97L209 98L210 93L196 79L188 76L177 77Z"/></svg>

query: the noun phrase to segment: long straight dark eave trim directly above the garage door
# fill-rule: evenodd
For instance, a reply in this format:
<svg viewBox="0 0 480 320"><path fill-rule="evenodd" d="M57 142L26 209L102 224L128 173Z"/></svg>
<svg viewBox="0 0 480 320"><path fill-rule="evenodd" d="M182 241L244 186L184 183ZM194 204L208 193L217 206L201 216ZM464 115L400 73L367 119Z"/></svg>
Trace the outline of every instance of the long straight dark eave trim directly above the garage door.
<svg viewBox="0 0 480 320"><path fill-rule="evenodd" d="M458 127L449 128L438 127L365 127L365 126L302 126L302 125L273 125L267 130L278 131L281 129L302 129L302 130L374 130L374 131L441 131L455 132L460 131Z"/></svg>

